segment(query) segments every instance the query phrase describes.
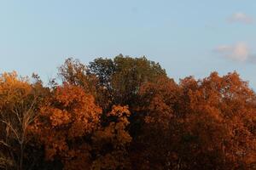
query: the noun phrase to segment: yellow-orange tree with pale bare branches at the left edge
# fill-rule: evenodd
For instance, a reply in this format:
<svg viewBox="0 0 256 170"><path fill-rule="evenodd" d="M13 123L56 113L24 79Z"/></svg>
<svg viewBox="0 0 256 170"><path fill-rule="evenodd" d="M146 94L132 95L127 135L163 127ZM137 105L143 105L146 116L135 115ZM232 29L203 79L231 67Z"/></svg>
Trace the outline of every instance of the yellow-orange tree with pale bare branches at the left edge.
<svg viewBox="0 0 256 170"><path fill-rule="evenodd" d="M4 159L9 161L0 161L0 164L7 169L23 169L28 127L38 113L37 96L28 78L18 77L16 72L1 75L0 150L4 153Z"/></svg>

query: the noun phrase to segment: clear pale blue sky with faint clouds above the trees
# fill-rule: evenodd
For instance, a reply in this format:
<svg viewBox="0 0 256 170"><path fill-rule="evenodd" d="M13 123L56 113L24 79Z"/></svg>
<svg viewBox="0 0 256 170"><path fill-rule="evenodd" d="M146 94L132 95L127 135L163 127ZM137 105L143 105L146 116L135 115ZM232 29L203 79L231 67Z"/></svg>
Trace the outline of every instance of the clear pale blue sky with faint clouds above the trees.
<svg viewBox="0 0 256 170"><path fill-rule="evenodd" d="M55 77L68 57L157 61L169 77L237 71L256 89L255 0L2 0L0 72Z"/></svg>

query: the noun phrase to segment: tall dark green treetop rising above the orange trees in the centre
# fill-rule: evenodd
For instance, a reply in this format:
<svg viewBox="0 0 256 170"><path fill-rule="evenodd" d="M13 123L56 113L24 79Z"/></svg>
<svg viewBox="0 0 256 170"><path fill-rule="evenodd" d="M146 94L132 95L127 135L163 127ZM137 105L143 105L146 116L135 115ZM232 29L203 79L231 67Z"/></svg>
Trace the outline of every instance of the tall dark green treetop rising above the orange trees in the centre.
<svg viewBox="0 0 256 170"><path fill-rule="evenodd" d="M166 77L159 63L146 57L132 58L119 54L113 59L95 59L90 62L90 73L99 77L101 85L111 92L115 105L135 105L140 86Z"/></svg>

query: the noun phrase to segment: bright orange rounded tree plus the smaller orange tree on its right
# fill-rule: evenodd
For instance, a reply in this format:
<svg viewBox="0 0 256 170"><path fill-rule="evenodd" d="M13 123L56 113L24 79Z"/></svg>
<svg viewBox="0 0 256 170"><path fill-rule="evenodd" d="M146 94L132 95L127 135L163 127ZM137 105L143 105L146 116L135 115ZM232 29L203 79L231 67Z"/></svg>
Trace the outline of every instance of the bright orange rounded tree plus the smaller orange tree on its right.
<svg viewBox="0 0 256 170"><path fill-rule="evenodd" d="M83 88L64 82L52 89L31 127L44 146L51 167L64 169L115 169L129 167L126 148L131 137L128 107L113 106L102 117L102 109ZM108 121L102 122L102 119Z"/></svg>

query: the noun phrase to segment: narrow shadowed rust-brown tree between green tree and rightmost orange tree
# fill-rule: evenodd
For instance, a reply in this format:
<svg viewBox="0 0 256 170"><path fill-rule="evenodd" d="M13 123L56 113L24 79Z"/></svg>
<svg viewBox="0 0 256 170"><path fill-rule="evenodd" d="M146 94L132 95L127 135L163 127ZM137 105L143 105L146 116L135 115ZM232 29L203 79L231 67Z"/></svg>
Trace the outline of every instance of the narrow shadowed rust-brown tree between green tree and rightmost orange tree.
<svg viewBox="0 0 256 170"><path fill-rule="evenodd" d="M136 169L172 169L177 142L177 84L167 77L143 84L137 111L143 115L141 132L133 141L131 160Z"/></svg>

